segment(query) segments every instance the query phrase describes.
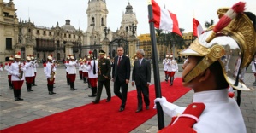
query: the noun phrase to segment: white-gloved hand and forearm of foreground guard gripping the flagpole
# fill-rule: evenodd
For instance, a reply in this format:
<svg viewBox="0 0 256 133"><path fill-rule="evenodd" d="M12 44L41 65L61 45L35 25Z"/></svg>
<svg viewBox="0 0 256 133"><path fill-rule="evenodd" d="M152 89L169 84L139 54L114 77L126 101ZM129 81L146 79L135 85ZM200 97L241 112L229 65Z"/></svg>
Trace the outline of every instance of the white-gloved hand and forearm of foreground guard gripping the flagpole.
<svg viewBox="0 0 256 133"><path fill-rule="evenodd" d="M154 108L157 107L156 102L159 102L161 107L162 107L162 109L163 109L163 111L164 111L164 113L166 113L170 117L182 114L183 111L186 108L186 107L178 107L175 104L168 102L165 97L156 98L154 100L154 102L155 102Z"/></svg>

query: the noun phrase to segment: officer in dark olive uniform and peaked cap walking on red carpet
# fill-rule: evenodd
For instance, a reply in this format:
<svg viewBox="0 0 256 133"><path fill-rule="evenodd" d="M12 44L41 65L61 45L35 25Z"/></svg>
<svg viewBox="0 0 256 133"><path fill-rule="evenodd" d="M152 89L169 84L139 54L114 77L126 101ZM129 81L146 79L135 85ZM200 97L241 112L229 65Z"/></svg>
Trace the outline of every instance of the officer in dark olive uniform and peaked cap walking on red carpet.
<svg viewBox="0 0 256 133"><path fill-rule="evenodd" d="M111 100L111 92L110 92L111 64L110 64L110 60L104 58L104 56L105 56L104 50L99 50L98 90L97 90L95 101L92 101L93 103L99 103L103 85L105 86L105 89L108 95L106 102L109 102Z"/></svg>

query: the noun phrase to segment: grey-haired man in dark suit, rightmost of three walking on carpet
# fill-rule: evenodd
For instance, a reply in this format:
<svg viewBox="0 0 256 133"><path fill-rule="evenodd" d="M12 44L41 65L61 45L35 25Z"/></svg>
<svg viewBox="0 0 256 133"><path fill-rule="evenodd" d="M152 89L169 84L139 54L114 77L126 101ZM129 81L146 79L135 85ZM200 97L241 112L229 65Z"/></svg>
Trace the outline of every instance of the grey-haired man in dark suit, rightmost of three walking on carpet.
<svg viewBox="0 0 256 133"><path fill-rule="evenodd" d="M146 109L149 109L149 84L151 80L151 65L150 61L144 59L145 52L143 49L138 49L136 52L138 57L138 61L134 62L134 69L132 74L132 85L134 86L134 82L136 84L137 90L137 99L138 99L138 107L136 113L142 111L142 96L143 94L144 102L146 104Z"/></svg>

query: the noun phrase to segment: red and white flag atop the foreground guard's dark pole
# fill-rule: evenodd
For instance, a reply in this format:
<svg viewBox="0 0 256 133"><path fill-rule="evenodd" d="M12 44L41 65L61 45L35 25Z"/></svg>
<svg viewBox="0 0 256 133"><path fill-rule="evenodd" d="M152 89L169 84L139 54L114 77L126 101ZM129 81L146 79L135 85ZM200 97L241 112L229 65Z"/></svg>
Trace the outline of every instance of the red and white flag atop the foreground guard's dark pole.
<svg viewBox="0 0 256 133"><path fill-rule="evenodd" d="M182 36L176 14L170 13L168 9L160 8L158 3L156 3L154 0L152 0L152 10L153 22L156 28L168 32L175 32L176 34Z"/></svg>

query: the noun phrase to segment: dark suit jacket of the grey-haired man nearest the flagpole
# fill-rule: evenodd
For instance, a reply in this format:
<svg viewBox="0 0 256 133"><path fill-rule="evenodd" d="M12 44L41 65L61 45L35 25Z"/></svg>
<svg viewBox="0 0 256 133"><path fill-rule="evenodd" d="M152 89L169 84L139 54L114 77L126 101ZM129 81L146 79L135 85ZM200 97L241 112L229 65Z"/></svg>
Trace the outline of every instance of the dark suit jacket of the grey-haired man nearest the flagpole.
<svg viewBox="0 0 256 133"><path fill-rule="evenodd" d="M151 80L151 64L148 60L143 59L134 62L132 80L136 85L150 83Z"/></svg>

